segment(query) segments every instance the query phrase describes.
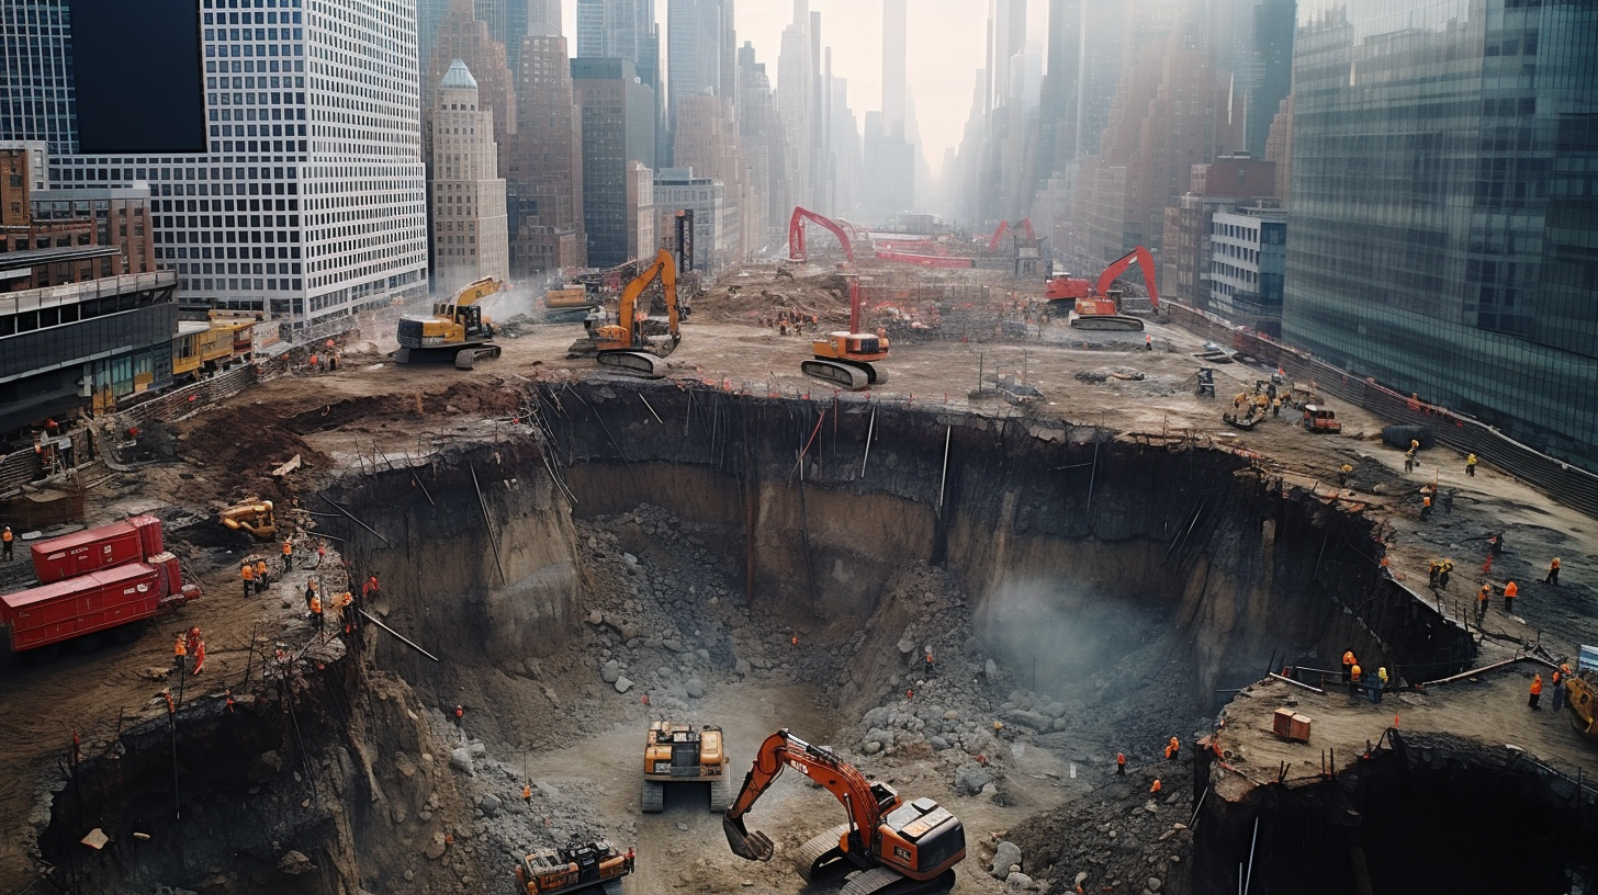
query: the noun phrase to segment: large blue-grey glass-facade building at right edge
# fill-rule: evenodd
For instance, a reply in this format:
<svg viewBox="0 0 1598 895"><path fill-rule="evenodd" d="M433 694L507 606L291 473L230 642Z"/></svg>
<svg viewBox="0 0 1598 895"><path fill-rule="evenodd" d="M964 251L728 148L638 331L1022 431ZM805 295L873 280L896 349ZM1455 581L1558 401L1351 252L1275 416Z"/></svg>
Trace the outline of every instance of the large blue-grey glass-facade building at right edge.
<svg viewBox="0 0 1598 895"><path fill-rule="evenodd" d="M1301 0L1283 336L1598 470L1598 3Z"/></svg>

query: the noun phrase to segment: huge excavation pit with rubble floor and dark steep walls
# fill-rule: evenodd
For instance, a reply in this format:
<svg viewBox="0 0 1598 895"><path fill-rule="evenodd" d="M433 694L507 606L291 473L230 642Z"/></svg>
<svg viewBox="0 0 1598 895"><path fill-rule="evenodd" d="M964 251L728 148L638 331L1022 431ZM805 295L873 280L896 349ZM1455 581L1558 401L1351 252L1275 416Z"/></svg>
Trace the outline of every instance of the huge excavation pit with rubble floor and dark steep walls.
<svg viewBox="0 0 1598 895"><path fill-rule="evenodd" d="M176 785L166 719L142 722L120 740L121 770L96 766L109 783L85 786L118 845L74 873L206 892L510 892L508 853L602 831L639 847L630 892L799 892L780 861L727 855L700 793L636 813L644 722L670 714L727 727L740 780L786 726L940 799L973 842L959 892L999 890L980 839L1101 798L1117 751L1135 767L1130 807L1151 775L1191 788L1160 764L1165 738L1191 750L1269 670L1352 647L1414 681L1473 655L1382 574L1373 521L1245 452L676 385L539 384L494 409L515 420L486 441L419 465L384 455L302 495L353 577L380 575L374 615L438 662L369 628L361 662L312 663L232 711L213 697L184 724ZM323 428L313 411L296 425L312 444ZM145 764L128 774L129 759ZM1186 815L1184 799L1160 809ZM200 810L153 807L174 801ZM56 799L42 841L62 868L80 849L72 802ZM842 812L785 778L756 817L791 849ZM208 823L235 833L208 849ZM1229 855L1235 836L1214 826ZM1208 873L1203 847L1178 853ZM291 850L310 869L300 869ZM1219 890L1187 873L1168 863L1165 890Z"/></svg>

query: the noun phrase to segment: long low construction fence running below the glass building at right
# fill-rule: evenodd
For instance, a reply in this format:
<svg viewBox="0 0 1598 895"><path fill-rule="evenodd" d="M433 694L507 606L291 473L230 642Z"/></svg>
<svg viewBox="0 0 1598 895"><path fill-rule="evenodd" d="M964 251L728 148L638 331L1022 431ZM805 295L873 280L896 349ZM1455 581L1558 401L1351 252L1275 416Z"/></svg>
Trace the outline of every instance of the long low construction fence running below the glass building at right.
<svg viewBox="0 0 1598 895"><path fill-rule="evenodd" d="M1294 382L1309 382L1315 392L1363 408L1385 420L1422 425L1440 444L1461 454L1475 454L1483 465L1502 470L1566 507L1598 516L1598 475L1540 454L1480 420L1400 395L1371 377L1350 374L1211 313L1178 302L1160 302L1160 307L1178 326L1282 368ZM1459 468L1464 470L1464 460Z"/></svg>

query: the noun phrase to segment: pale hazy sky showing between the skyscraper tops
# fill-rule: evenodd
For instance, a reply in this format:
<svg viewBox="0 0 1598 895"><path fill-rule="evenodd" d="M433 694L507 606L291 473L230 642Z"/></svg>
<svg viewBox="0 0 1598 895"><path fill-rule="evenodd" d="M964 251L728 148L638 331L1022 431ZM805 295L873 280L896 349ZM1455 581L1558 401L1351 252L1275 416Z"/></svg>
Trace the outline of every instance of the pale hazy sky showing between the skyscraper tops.
<svg viewBox="0 0 1598 895"><path fill-rule="evenodd" d="M666 34L666 5L657 0L660 34ZM783 27L793 21L793 0L735 0L738 46L754 43L775 86L777 51ZM849 105L865 126L865 113L882 105L882 0L810 0L821 13L821 43L833 48L833 75L849 78ZM564 24L575 38L575 0L566 0ZM909 0L906 74L916 96L916 118L927 163L943 165L943 150L960 142L972 109L972 85L983 67L988 29L984 0Z"/></svg>

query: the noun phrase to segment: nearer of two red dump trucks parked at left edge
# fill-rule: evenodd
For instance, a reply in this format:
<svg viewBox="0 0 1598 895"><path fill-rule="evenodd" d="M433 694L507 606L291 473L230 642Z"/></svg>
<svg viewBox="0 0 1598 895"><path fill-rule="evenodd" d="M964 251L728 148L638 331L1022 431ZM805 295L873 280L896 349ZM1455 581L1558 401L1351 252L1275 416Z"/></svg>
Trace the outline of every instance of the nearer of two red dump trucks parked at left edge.
<svg viewBox="0 0 1598 895"><path fill-rule="evenodd" d="M157 553L0 596L0 646L48 662L69 641L80 652L97 649L104 634L133 642L141 622L198 598L200 587L184 583L177 558Z"/></svg>

